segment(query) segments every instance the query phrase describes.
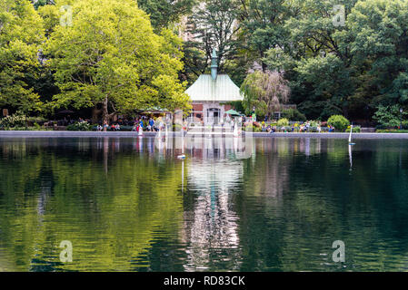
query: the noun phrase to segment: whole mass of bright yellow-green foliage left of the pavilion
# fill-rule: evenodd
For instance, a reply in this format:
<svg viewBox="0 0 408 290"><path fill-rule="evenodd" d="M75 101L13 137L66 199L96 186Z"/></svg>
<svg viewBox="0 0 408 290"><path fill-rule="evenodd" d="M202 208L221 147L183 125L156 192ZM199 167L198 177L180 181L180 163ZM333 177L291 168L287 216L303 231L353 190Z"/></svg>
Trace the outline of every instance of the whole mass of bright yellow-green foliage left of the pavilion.
<svg viewBox="0 0 408 290"><path fill-rule="evenodd" d="M99 106L103 120L134 109L189 108L178 80L180 39L169 29L155 33L134 0L34 4L0 4L1 106ZM52 95L38 93L45 91Z"/></svg>

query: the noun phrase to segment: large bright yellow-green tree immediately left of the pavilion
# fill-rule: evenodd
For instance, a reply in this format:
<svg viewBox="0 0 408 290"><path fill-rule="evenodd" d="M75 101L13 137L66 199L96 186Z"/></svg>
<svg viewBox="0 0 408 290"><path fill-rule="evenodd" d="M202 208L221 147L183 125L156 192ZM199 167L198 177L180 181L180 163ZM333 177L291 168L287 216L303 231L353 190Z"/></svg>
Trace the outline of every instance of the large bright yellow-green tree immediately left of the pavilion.
<svg viewBox="0 0 408 290"><path fill-rule="evenodd" d="M72 11L72 27L55 26L46 45L61 90L55 107L100 104L104 121L136 108L189 108L178 82L183 55L174 34L154 34L132 0L77 0Z"/></svg>

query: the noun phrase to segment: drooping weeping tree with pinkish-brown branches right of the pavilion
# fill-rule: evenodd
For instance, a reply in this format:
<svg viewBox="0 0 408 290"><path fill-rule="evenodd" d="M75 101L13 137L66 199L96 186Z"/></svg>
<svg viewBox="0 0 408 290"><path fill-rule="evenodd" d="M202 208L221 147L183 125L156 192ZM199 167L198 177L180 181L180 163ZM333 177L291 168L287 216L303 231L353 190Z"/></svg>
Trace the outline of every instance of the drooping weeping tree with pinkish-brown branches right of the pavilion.
<svg viewBox="0 0 408 290"><path fill-rule="evenodd" d="M281 104L288 101L290 88L281 73L255 69L246 76L241 92L246 114L255 108L256 115L266 116L279 111Z"/></svg>

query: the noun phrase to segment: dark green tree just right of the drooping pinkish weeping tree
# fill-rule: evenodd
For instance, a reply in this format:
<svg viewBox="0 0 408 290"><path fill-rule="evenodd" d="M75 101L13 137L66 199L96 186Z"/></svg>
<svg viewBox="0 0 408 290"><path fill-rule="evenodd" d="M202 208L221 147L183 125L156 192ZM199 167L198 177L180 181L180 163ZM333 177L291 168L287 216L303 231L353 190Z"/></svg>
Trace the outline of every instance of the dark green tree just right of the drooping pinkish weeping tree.
<svg viewBox="0 0 408 290"><path fill-rule="evenodd" d="M345 15L355 3L343 1ZM308 118L326 119L333 114L348 115L353 95L352 55L347 26L333 24L333 7L338 1L294 2L293 17L284 27L290 41L271 48L265 63L284 71L290 81L293 102Z"/></svg>

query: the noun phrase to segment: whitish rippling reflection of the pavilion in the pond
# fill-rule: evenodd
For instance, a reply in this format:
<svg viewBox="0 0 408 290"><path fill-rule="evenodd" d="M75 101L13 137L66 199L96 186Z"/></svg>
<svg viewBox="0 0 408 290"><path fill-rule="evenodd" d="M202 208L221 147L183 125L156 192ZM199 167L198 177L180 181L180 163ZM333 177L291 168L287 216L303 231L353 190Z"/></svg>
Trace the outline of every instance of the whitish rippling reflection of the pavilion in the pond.
<svg viewBox="0 0 408 290"><path fill-rule="evenodd" d="M238 215L231 200L244 168L243 160L234 158L242 148L230 141L203 138L186 144L187 189L194 189L194 207L184 212L181 233L186 245L186 271L211 269L213 260L224 261L229 269L240 267Z"/></svg>

